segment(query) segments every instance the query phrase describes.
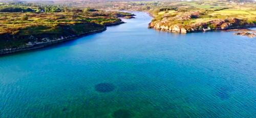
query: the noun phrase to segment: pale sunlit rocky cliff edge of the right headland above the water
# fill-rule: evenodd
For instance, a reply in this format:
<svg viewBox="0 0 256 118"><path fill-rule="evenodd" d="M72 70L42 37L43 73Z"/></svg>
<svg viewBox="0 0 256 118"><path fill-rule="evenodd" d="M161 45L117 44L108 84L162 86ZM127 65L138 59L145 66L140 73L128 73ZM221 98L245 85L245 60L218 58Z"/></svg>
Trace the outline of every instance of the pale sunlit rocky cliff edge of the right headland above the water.
<svg viewBox="0 0 256 118"><path fill-rule="evenodd" d="M205 32L211 30L226 30L226 29L237 29L237 28L248 28L256 27L256 23L247 23L238 18L230 19L212 19L205 22L193 23L191 25L165 25L161 21L153 21L148 25L148 28L169 31L169 32L180 32L180 33L189 33L189 32Z"/></svg>

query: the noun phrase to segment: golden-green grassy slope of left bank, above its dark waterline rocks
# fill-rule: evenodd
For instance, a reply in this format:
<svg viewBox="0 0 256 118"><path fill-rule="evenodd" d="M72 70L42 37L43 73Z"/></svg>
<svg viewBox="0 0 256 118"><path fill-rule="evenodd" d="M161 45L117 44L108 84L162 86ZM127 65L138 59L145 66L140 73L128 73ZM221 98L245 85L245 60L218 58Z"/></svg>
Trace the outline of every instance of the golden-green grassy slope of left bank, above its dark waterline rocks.
<svg viewBox="0 0 256 118"><path fill-rule="evenodd" d="M27 15L28 20L22 20ZM0 13L0 50L17 48L28 42L44 42L61 36L80 35L104 29L104 25L118 23L122 12L58 12L58 13ZM34 38L30 38L33 36Z"/></svg>

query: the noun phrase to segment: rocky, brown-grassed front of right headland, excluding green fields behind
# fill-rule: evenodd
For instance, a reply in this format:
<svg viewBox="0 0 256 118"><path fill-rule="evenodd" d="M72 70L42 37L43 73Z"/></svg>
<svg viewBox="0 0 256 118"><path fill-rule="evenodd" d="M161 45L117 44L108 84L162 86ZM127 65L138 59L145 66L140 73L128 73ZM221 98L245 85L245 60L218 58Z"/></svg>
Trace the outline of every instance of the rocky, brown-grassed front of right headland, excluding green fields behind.
<svg viewBox="0 0 256 118"><path fill-rule="evenodd" d="M170 11L159 14L152 14L154 19L148 24L148 28L177 32L207 32L215 30L244 29L256 27L254 19L246 19L239 15L227 17L214 15L212 12L203 11Z"/></svg>

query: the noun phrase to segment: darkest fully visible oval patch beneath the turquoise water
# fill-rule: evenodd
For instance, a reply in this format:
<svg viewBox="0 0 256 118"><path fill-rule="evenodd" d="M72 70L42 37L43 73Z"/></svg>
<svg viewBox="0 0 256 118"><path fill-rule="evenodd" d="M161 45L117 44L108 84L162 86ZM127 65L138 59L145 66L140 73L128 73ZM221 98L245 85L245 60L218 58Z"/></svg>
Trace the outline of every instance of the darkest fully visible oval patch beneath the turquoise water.
<svg viewBox="0 0 256 118"><path fill-rule="evenodd" d="M115 89L115 86L110 83L100 83L95 85L95 90L98 92L111 92Z"/></svg>

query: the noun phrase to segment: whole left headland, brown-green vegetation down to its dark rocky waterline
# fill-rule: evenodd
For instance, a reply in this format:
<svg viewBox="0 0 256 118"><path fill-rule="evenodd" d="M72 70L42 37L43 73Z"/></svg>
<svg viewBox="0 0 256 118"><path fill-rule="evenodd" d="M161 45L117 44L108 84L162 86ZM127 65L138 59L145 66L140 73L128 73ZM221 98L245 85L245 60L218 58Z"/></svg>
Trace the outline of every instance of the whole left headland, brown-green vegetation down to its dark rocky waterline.
<svg viewBox="0 0 256 118"><path fill-rule="evenodd" d="M44 48L103 32L108 26L125 23L120 17L134 18L131 13L91 8L16 6L0 8L0 55Z"/></svg>

